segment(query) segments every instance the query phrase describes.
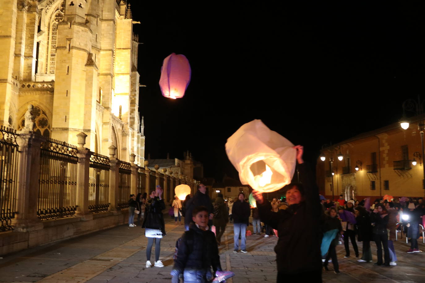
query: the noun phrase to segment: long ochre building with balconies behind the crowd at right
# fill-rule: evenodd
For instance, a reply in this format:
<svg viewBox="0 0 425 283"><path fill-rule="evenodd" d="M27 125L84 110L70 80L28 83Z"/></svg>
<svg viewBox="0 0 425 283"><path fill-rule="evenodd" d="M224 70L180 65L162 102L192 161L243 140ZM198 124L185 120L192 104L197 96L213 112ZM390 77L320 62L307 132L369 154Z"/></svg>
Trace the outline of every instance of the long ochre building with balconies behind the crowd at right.
<svg viewBox="0 0 425 283"><path fill-rule="evenodd" d="M415 117L407 130L393 123L323 149L326 160L318 158L316 164L320 193L334 199L342 193L346 200L386 194L423 197L424 164L416 125L419 118L424 117ZM337 158L339 153L343 154L342 161Z"/></svg>

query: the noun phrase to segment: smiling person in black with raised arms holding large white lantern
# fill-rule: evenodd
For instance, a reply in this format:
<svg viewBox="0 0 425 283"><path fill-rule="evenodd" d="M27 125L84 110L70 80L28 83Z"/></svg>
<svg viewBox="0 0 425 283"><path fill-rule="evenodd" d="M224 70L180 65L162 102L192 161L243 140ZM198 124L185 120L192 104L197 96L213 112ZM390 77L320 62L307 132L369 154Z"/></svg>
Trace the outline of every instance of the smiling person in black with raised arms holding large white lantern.
<svg viewBox="0 0 425 283"><path fill-rule="evenodd" d="M277 282L322 282L320 244L323 212L319 189L303 161L303 147L294 148L297 150L297 168L302 185L287 185L286 201L289 207L272 212L270 203L263 199L261 192L252 191L252 195L257 200L260 219L278 230L279 240L275 247Z"/></svg>

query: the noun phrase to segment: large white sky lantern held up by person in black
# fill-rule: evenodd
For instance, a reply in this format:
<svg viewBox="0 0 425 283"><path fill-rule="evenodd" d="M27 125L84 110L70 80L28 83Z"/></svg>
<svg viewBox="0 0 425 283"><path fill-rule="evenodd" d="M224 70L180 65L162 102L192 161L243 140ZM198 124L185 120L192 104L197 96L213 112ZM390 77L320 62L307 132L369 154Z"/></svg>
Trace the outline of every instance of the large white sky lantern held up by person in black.
<svg viewBox="0 0 425 283"><path fill-rule="evenodd" d="M296 165L293 146L261 120L253 120L227 139L226 153L242 184L269 193L291 182Z"/></svg>

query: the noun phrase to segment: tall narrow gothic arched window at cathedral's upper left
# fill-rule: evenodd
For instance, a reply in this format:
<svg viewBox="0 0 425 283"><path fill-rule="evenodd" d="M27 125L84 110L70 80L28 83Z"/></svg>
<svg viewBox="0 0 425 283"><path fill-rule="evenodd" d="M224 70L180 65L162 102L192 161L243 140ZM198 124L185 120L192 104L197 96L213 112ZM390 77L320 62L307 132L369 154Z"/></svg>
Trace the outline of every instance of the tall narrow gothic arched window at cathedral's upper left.
<svg viewBox="0 0 425 283"><path fill-rule="evenodd" d="M51 21L48 27L47 37L47 52L46 52L46 64L45 73L54 74L56 68L56 45L57 45L57 23L62 22L64 18L63 12L65 11L65 1L53 13Z"/></svg>

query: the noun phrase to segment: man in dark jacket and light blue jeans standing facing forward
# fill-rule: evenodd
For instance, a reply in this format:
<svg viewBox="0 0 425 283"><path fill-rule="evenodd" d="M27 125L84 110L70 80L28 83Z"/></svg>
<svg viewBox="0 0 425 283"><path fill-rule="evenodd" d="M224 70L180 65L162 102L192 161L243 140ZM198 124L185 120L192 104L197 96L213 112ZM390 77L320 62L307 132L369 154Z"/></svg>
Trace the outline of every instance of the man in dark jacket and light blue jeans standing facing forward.
<svg viewBox="0 0 425 283"><path fill-rule="evenodd" d="M235 250L233 252L238 252L239 248L239 235L241 236L241 252L246 251L246 226L248 226L249 215L251 210L249 209L248 202L244 201L244 193L239 193L238 201L233 204L232 207L232 216L233 216L233 232L235 236L233 240L235 242Z"/></svg>

